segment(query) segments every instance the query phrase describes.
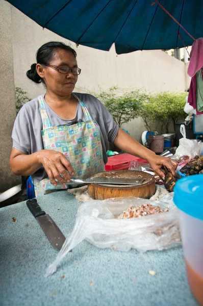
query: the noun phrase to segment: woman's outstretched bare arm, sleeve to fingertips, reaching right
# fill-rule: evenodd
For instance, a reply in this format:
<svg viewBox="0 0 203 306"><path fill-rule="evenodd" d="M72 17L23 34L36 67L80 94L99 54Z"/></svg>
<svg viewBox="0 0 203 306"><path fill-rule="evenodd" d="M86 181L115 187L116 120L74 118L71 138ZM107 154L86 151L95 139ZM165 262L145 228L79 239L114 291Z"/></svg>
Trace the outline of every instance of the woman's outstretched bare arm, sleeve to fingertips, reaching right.
<svg viewBox="0 0 203 306"><path fill-rule="evenodd" d="M177 163L175 161L170 160L166 157L161 157L155 154L155 152L147 149L135 139L133 139L130 135L122 131L118 130L118 134L113 142L118 148L123 150L126 153L139 156L145 160L147 160L151 166L151 168L156 171L161 177L164 177L164 173L160 170L162 166L166 166L171 170L171 173L175 174L175 168L177 167Z"/></svg>

